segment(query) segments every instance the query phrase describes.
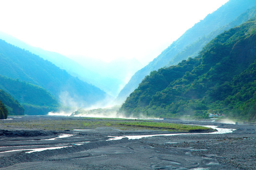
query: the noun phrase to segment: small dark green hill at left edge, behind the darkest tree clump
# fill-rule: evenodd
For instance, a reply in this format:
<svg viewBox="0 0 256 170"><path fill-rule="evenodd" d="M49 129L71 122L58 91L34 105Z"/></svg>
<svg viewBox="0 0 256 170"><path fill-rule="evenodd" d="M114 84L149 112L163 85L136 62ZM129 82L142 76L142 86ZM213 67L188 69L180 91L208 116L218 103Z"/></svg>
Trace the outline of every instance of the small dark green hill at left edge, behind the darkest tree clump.
<svg viewBox="0 0 256 170"><path fill-rule="evenodd" d="M8 110L8 115L24 115L24 108L18 103L17 100L14 100L10 94L6 93L3 90L0 90L0 101L5 105L6 109ZM1 118L2 117L0 116L0 119ZM3 118L6 119L7 115L5 114Z"/></svg>

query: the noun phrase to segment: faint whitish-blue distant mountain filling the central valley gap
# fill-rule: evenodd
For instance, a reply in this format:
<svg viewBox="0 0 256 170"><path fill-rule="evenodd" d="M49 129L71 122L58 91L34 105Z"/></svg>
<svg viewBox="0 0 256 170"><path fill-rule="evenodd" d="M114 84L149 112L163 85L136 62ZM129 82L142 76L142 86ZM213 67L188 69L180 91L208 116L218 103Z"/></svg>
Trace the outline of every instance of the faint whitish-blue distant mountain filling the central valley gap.
<svg viewBox="0 0 256 170"><path fill-rule="evenodd" d="M84 79L104 89L112 96L117 96L119 91L128 82L130 77L142 64L137 59L114 59L110 62L100 59L76 59L84 68L94 70L99 76L83 75ZM135 71L136 70L136 71ZM87 77L86 77L87 76ZM79 76L78 76L79 77Z"/></svg>

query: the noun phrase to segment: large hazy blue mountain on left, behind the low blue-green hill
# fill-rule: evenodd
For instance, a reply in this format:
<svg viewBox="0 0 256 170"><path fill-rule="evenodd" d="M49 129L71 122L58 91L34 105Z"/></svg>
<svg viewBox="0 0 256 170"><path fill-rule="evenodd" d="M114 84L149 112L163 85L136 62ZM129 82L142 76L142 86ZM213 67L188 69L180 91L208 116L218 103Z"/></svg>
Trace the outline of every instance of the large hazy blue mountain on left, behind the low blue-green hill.
<svg viewBox="0 0 256 170"><path fill-rule="evenodd" d="M62 104L88 107L108 97L39 56L0 40L0 75L43 87Z"/></svg>

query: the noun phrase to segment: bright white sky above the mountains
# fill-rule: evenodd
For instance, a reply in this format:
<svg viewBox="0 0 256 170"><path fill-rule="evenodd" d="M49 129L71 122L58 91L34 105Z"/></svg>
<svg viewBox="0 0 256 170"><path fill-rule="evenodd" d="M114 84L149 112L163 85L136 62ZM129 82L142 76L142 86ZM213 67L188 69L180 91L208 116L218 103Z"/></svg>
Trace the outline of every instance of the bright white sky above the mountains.
<svg viewBox="0 0 256 170"><path fill-rule="evenodd" d="M228 0L0 0L0 31L70 58L147 64Z"/></svg>

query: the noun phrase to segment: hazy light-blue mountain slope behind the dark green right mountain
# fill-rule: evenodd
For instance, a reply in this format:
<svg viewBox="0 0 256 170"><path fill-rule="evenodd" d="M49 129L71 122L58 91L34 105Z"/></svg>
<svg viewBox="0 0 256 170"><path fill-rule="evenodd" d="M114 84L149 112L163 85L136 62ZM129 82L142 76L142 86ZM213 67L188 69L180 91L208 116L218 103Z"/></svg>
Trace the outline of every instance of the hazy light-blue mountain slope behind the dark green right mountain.
<svg viewBox="0 0 256 170"><path fill-rule="evenodd" d="M255 0L229 0L218 10L187 30L146 67L138 70L120 91L116 101L120 103L125 101L151 71L197 56L198 52L218 34L254 17L256 15L255 8L248 10L254 6L256 6Z"/></svg>

